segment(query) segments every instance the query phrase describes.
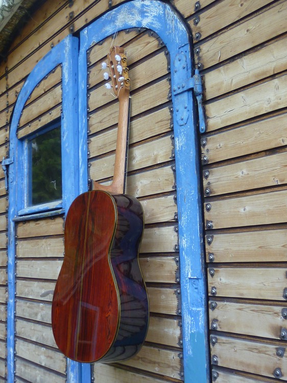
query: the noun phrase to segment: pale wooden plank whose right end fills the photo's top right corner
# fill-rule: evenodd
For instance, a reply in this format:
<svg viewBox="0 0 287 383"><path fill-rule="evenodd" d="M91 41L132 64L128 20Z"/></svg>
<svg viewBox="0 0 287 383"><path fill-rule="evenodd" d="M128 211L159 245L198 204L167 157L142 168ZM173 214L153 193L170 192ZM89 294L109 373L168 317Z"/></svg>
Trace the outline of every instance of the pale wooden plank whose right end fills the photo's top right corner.
<svg viewBox="0 0 287 383"><path fill-rule="evenodd" d="M197 62L207 68L279 36L286 31L286 16L284 1L271 5L202 43Z"/></svg>

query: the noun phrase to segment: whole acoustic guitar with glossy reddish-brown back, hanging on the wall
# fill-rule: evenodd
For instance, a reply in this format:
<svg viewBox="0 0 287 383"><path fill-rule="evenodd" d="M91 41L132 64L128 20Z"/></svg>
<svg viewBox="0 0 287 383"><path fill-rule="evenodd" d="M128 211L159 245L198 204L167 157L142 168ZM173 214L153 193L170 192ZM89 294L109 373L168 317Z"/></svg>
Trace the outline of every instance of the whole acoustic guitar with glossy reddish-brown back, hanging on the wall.
<svg viewBox="0 0 287 383"><path fill-rule="evenodd" d="M136 198L124 194L130 84L123 48L114 46L108 65L102 66L109 67L119 100L113 181L109 186L92 181L92 190L71 204L52 303L59 349L83 363L133 356L145 341L149 323L147 289L138 262L143 211Z"/></svg>

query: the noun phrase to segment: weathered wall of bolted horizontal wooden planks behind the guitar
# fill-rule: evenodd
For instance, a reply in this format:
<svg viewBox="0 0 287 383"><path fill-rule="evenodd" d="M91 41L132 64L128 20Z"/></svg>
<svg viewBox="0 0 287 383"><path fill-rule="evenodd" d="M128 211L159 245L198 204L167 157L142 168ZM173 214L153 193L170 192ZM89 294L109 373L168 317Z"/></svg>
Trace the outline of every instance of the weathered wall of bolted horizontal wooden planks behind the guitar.
<svg viewBox="0 0 287 383"><path fill-rule="evenodd" d="M119 3L112 0L111 5ZM280 349L287 327L287 2L172 4L190 26L195 62L204 78L207 132L202 135L201 160L212 376L219 383L274 382L280 369L285 381L286 354L280 355ZM48 0L15 39L7 61L0 64L1 158L8 151L17 94L31 69L53 45L69 33L77 34L108 8L107 0ZM169 57L148 31L121 33L117 43L125 46L130 77L136 79L131 89L128 193L139 198L146 212L140 262L152 314L138 356L121 365L95 365L93 373L96 381L109 383L179 382L183 377ZM112 176L117 118L117 104L100 74L109 46L107 39L89 54L88 161L90 177L101 182ZM147 71L147 60L153 70ZM28 101L19 138L60 115L60 78L57 68ZM0 381L5 381L7 194L2 169L0 177ZM52 295L43 294L54 289L62 235L63 217L17 224L18 382L66 378L66 362L51 331Z"/></svg>

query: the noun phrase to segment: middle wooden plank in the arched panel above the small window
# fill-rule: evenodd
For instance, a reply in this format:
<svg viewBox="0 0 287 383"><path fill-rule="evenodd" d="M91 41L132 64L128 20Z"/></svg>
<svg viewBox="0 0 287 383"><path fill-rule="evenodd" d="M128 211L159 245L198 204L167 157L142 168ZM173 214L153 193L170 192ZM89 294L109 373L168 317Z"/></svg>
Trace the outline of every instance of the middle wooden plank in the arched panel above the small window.
<svg viewBox="0 0 287 383"><path fill-rule="evenodd" d="M46 113L47 111L55 108L62 102L62 89L61 85L52 88L37 99L36 101L29 104L22 111L22 115L19 121L19 127L28 124L34 118L39 115Z"/></svg>

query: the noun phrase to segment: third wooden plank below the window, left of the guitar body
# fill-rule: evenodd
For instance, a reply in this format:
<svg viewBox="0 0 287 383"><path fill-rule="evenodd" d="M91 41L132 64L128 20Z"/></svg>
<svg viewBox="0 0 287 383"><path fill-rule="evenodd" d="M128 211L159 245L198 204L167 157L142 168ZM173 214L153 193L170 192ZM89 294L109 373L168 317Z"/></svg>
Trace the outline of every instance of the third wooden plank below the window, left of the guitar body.
<svg viewBox="0 0 287 383"><path fill-rule="evenodd" d="M18 260L16 273L22 278L57 280L62 260Z"/></svg>

